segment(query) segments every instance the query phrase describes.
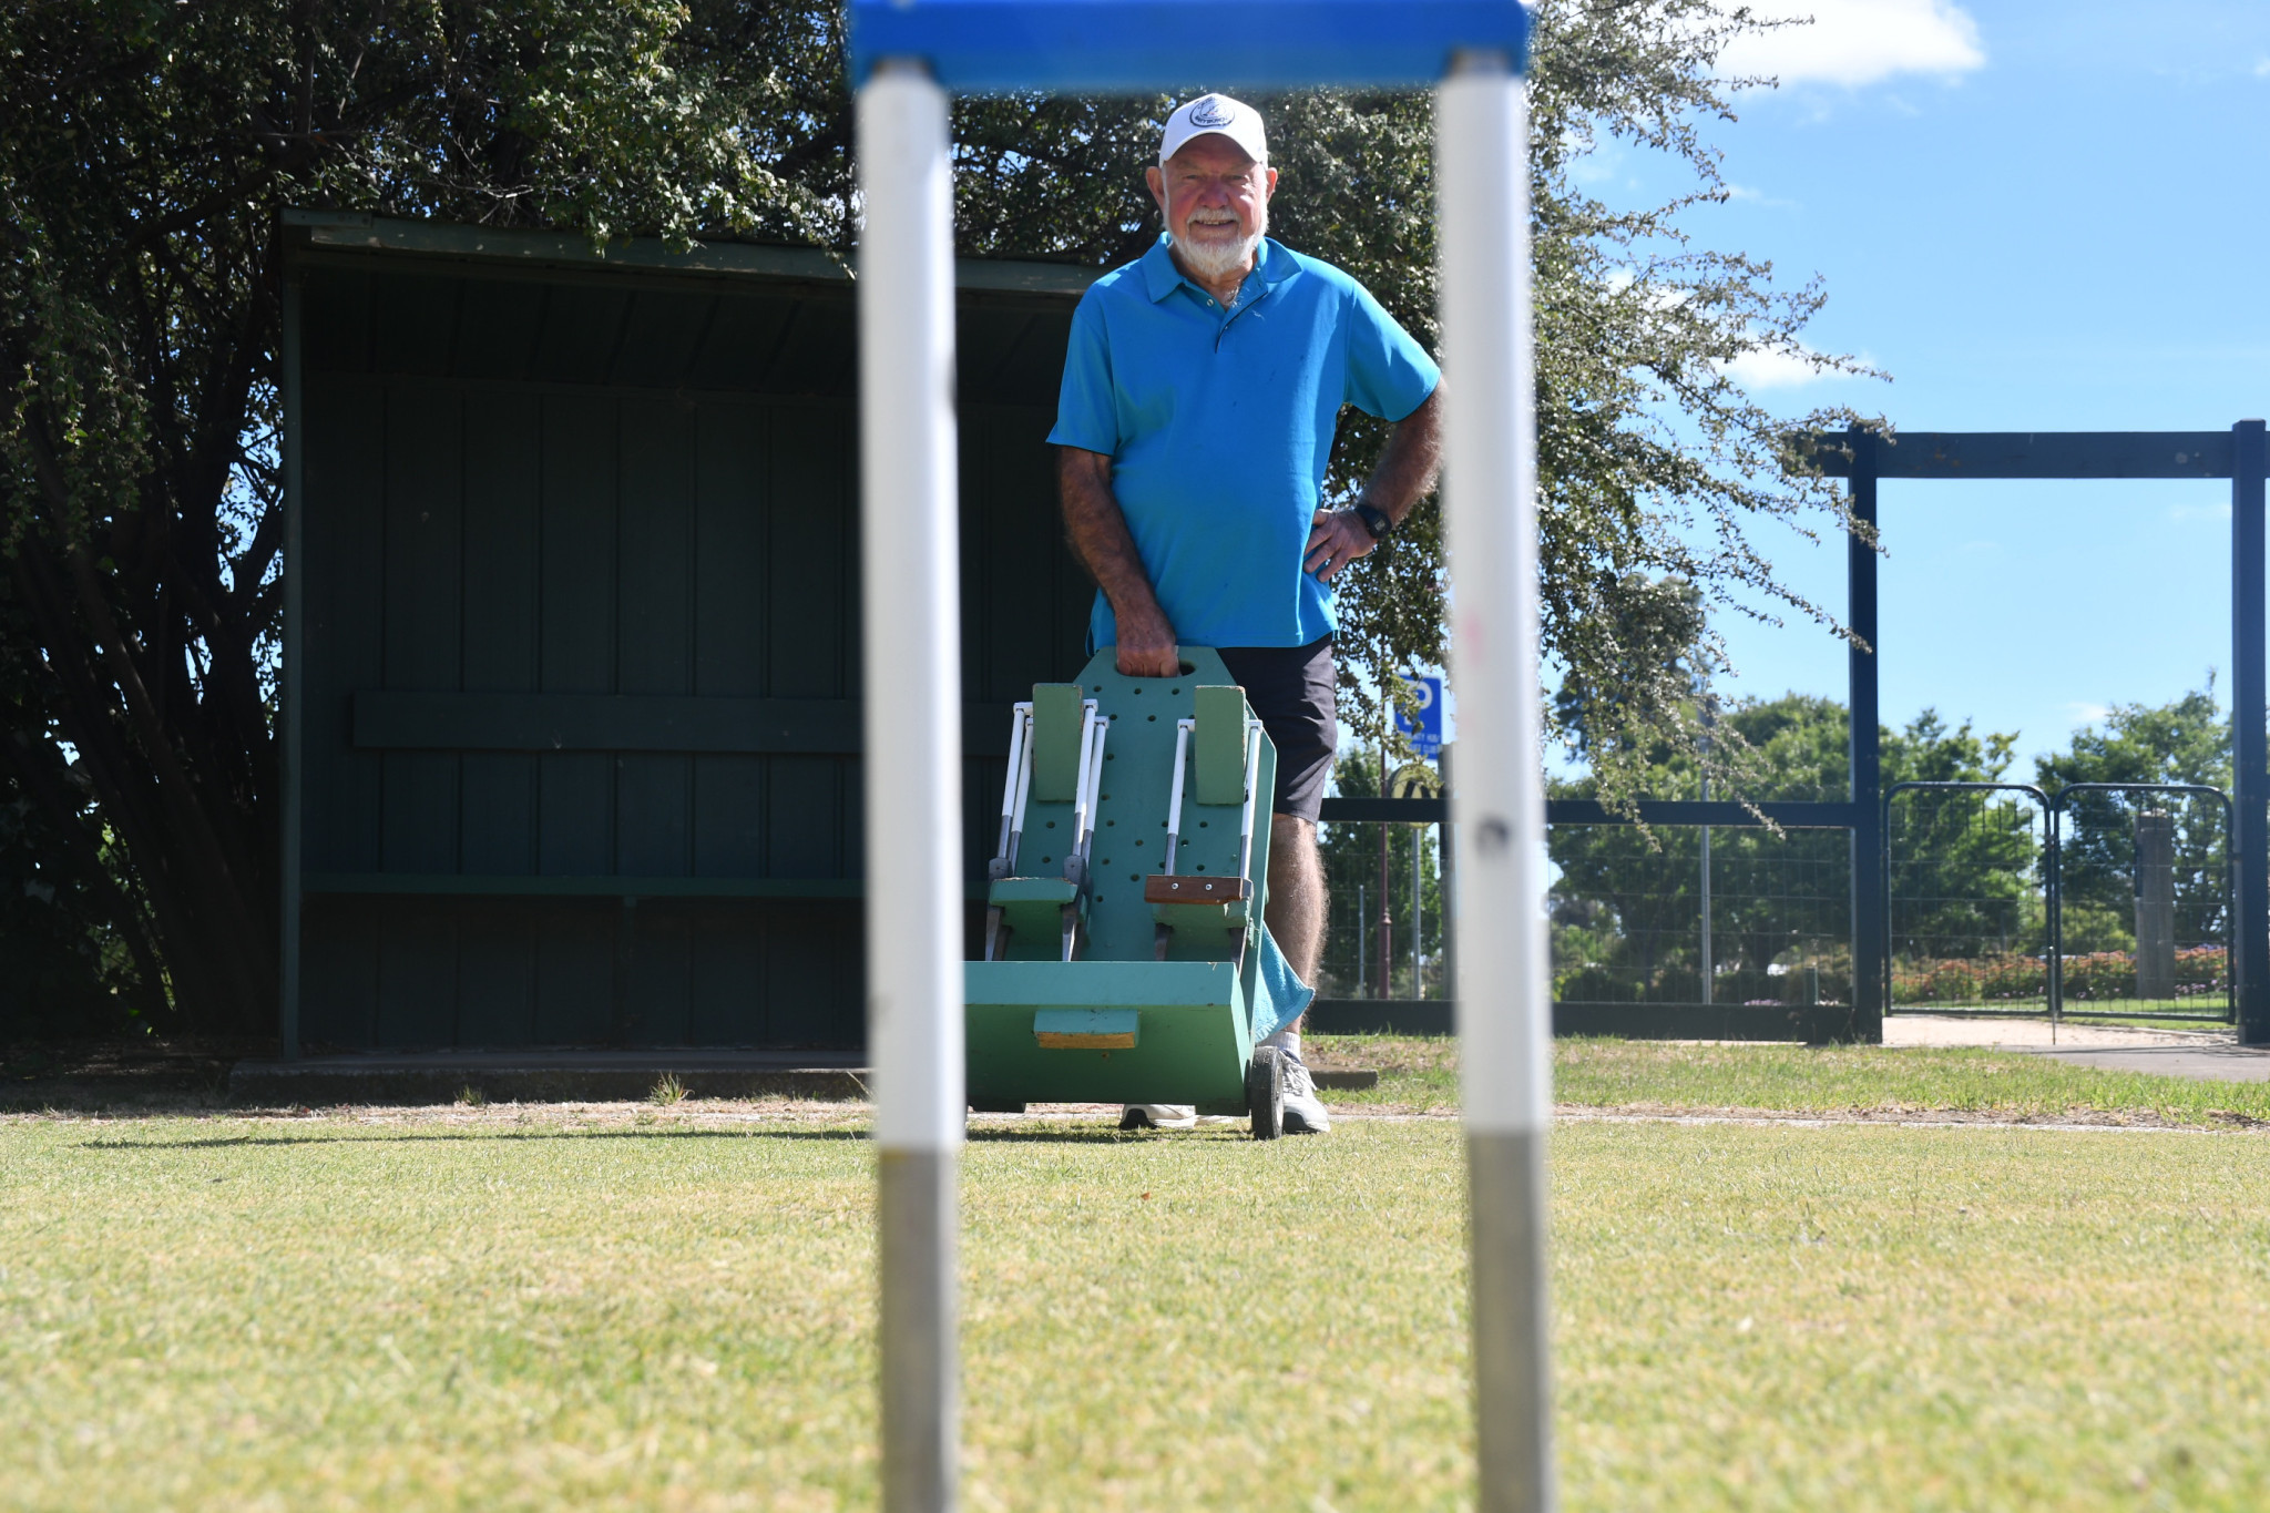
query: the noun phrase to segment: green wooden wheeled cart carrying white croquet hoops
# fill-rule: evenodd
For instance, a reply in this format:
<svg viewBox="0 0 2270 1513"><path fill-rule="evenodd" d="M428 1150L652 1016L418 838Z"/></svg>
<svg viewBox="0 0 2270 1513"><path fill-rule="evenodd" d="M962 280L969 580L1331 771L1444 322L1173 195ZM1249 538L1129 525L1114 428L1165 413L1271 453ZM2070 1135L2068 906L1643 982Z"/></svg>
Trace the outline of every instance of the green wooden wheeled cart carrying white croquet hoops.
<svg viewBox="0 0 2270 1513"><path fill-rule="evenodd" d="M1112 649L1015 705L969 1105L1178 1102L1283 1132L1262 1046L1289 973L1262 923L1276 746L1214 651L1128 678ZM1305 989L1298 991L1305 998Z"/></svg>

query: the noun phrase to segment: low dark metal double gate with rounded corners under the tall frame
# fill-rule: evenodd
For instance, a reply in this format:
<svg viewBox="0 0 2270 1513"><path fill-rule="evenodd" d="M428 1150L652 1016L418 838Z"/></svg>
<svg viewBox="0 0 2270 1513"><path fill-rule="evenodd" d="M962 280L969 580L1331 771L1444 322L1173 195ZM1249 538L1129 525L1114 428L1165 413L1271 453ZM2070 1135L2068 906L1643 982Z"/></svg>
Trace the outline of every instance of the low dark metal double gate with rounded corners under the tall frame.
<svg viewBox="0 0 2270 1513"><path fill-rule="evenodd" d="M2188 783L1895 783L1889 1012L2234 1023L2231 801Z"/></svg>

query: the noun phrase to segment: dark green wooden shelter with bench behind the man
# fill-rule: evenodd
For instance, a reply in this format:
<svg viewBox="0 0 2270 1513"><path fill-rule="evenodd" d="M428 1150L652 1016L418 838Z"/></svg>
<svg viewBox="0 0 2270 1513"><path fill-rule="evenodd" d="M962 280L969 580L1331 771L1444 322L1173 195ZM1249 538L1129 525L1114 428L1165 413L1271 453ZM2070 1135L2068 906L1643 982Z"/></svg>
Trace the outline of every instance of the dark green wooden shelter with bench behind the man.
<svg viewBox="0 0 2270 1513"><path fill-rule="evenodd" d="M300 1039L854 1048L851 288L527 245L291 243ZM1010 274L960 308L972 878L1090 599L1044 445L1078 279Z"/></svg>

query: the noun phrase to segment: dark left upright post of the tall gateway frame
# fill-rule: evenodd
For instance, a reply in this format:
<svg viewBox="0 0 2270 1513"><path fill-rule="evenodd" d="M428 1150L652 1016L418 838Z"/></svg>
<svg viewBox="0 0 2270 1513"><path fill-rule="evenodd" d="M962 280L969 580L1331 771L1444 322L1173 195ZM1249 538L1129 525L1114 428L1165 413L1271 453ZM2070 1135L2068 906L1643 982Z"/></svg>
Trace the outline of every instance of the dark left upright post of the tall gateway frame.
<svg viewBox="0 0 2270 1513"><path fill-rule="evenodd" d="M1852 517L1875 524L1877 436L1852 426ZM1875 624L1875 542L1857 533L1846 540L1846 610L1852 635L1846 651L1848 705L1852 712L1852 1021L1834 1039L1884 1041L1884 994L1891 984L1891 937L1884 930L1884 805L1882 753L1877 746L1877 671L1882 644ZM1864 642L1864 644L1861 644ZM1818 1034L1818 1023L1811 1034Z"/></svg>

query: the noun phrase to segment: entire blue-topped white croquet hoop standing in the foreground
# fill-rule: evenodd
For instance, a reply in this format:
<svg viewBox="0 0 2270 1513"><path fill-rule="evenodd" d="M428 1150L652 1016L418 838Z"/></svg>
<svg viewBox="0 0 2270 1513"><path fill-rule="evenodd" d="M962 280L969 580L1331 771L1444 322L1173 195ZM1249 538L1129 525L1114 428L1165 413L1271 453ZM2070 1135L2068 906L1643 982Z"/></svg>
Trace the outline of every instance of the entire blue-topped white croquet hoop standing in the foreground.
<svg viewBox="0 0 2270 1513"><path fill-rule="evenodd" d="M867 669L867 1034L883 1508L956 1506L960 637L947 91L1439 84L1437 184L1464 907L1462 1087L1482 1513L1555 1506L1550 1007L1537 712L1530 18L1519 0L851 0Z"/></svg>

